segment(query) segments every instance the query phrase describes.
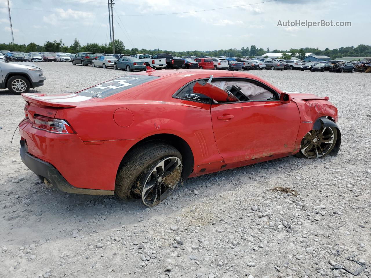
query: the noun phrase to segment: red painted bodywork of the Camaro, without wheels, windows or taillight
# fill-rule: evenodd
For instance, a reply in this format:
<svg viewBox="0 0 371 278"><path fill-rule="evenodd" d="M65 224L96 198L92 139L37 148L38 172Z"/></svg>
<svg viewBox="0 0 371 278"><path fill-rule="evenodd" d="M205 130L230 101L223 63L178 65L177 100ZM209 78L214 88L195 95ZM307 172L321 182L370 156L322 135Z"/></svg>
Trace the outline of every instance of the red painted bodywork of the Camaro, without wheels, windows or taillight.
<svg viewBox="0 0 371 278"><path fill-rule="evenodd" d="M210 104L173 97L188 82L208 80L210 75L249 78L282 92L257 76L242 72L161 70L135 74L161 78L104 99L63 105L24 97L29 122L34 114L49 116L66 120L76 131L53 134L32 128L25 120L19 129L28 152L55 166L73 186L114 190L125 153L151 135L183 138L194 157L190 176L197 176L292 155L298 152L301 139L316 119L331 116L338 120L334 105L310 94L289 93L289 103L276 100ZM203 168L206 171L200 172Z"/></svg>

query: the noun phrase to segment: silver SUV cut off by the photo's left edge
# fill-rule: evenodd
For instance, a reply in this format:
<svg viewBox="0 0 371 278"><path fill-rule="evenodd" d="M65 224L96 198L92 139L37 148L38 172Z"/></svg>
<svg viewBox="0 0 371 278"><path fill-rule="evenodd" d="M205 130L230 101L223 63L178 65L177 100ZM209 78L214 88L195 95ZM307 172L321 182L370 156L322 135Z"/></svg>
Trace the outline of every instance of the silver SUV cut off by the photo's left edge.
<svg viewBox="0 0 371 278"><path fill-rule="evenodd" d="M33 64L0 62L0 89L8 89L15 95L43 86L45 76L42 69Z"/></svg>

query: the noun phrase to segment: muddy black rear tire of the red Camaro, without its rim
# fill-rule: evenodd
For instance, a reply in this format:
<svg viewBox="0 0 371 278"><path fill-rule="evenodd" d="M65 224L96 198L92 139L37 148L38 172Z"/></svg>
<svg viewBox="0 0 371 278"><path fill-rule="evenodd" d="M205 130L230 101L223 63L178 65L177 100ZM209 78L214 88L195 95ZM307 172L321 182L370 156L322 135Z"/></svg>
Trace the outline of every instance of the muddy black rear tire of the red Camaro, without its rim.
<svg viewBox="0 0 371 278"><path fill-rule="evenodd" d="M175 156L182 162L180 152L161 141L141 144L129 151L126 156L128 159L122 163L115 182L115 193L121 199L141 196L141 182L159 160Z"/></svg>

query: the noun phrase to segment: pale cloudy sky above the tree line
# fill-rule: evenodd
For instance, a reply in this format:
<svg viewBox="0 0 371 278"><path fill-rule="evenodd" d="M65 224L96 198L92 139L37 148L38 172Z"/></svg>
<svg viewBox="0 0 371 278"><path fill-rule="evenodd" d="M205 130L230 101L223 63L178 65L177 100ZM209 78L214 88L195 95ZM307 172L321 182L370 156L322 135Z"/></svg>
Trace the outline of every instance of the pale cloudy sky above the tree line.
<svg viewBox="0 0 371 278"><path fill-rule="evenodd" d="M370 44L370 0L276 0L250 6L187 11L267 0L115 0L115 39L126 48L217 50L250 47L290 49ZM14 42L43 45L108 43L107 0L10 0ZM136 15L136 16L134 16ZM139 16L140 15L140 16ZM351 21L351 27L281 27L278 21ZM7 0L0 0L0 42L9 43Z"/></svg>

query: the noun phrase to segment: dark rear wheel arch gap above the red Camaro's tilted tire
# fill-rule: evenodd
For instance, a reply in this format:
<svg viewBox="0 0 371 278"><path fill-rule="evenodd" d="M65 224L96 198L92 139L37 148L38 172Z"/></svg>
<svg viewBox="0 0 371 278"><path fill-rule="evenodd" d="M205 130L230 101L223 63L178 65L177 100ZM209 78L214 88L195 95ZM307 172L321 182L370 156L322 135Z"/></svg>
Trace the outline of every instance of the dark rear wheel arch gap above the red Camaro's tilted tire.
<svg viewBox="0 0 371 278"><path fill-rule="evenodd" d="M153 141L168 143L179 150L183 158L182 178L183 179L188 178L188 176L193 172L193 167L194 167L194 156L193 156L192 149L190 145L183 138L177 135L174 135L174 134L170 134L170 133L160 133L160 134L151 135L135 143L125 153L117 169L117 172L119 171L121 166L124 164L124 162L127 160L127 158L132 154L132 152L134 152L140 146L145 145L148 142L153 142Z"/></svg>

